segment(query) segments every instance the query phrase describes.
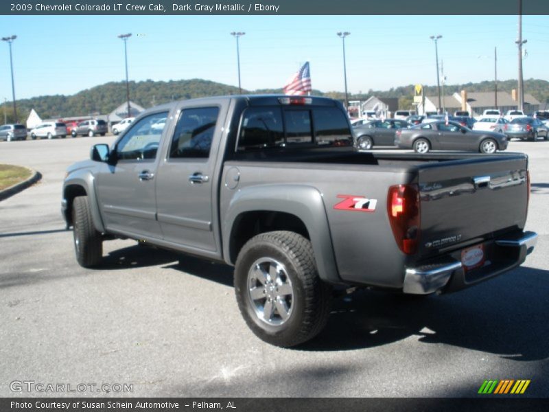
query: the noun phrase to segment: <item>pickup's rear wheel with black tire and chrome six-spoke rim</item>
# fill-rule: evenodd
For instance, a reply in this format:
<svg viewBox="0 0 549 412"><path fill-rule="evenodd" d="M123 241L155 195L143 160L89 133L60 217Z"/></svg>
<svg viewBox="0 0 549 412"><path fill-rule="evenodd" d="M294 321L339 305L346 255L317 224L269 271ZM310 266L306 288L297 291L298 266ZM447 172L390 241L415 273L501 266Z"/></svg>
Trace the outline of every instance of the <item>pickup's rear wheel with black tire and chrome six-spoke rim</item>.
<svg viewBox="0 0 549 412"><path fill-rule="evenodd" d="M266 264L270 266L264 266ZM266 267L269 268L268 275ZM273 267L275 282L272 282L270 272ZM254 268L258 270L254 271ZM255 279L256 274L259 277L265 274L261 282ZM257 287L250 288L252 284ZM285 286L286 293L279 292L279 286ZM254 299L253 290L266 297ZM291 295L288 290L291 290ZM331 306L331 288L318 277L311 242L290 231L261 233L248 240L235 265L235 293L248 327L259 339L281 347L299 345L316 336L326 325ZM270 296L276 297L273 299L275 303L269 306L272 315L267 321L264 312L268 310ZM261 316L257 304L264 305ZM279 304L288 308L285 319L281 316Z"/></svg>

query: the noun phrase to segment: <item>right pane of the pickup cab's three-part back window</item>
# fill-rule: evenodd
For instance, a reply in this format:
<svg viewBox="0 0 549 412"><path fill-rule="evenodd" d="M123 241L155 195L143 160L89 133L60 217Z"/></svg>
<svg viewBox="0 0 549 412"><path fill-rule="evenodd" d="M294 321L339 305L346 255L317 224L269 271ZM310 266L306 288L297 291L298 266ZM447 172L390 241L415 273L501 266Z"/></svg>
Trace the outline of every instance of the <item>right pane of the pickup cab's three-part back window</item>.
<svg viewBox="0 0 549 412"><path fill-rule="evenodd" d="M315 140L318 145L352 146L353 137L344 113L333 107L313 109Z"/></svg>

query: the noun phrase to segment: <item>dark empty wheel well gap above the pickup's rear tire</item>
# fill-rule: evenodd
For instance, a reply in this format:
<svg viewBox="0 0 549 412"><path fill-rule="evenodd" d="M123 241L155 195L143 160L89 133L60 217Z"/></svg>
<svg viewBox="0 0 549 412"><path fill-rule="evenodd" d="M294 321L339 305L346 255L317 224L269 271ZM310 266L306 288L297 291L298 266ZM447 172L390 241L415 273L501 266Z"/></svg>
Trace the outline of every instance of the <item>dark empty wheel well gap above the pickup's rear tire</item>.
<svg viewBox="0 0 549 412"><path fill-rule="evenodd" d="M281 211L248 211L240 214L233 224L229 240L229 258L236 262L240 249L259 233L274 230L287 230L299 233L310 240L305 223L295 215Z"/></svg>

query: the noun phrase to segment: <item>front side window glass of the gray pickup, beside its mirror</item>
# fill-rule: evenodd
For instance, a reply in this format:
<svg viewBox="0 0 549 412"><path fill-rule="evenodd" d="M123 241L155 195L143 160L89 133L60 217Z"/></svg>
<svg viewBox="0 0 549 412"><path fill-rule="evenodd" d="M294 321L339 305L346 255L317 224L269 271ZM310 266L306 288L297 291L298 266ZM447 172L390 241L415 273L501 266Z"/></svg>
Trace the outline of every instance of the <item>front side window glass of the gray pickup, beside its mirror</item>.
<svg viewBox="0 0 549 412"><path fill-rule="evenodd" d="M133 124L116 146L119 160L154 159L166 125L167 112L154 113Z"/></svg>

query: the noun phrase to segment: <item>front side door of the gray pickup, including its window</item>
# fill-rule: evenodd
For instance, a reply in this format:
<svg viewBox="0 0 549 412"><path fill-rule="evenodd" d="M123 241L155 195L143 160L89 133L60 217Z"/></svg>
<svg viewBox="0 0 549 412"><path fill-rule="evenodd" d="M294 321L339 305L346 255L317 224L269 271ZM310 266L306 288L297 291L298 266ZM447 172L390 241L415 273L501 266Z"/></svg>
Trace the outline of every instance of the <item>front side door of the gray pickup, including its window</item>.
<svg viewBox="0 0 549 412"><path fill-rule="evenodd" d="M161 119L167 111L152 113L132 124L115 145L117 162L104 163L97 174L97 195L109 231L143 238L162 238L156 220L154 184L159 163Z"/></svg>

